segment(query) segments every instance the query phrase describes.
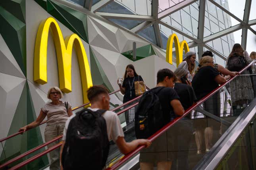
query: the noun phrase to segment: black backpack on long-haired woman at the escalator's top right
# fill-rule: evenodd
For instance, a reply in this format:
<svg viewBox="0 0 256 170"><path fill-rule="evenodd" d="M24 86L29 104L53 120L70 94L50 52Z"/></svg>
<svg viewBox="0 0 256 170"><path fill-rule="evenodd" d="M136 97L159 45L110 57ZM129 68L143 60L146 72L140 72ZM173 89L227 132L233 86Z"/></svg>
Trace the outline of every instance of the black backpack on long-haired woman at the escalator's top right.
<svg viewBox="0 0 256 170"><path fill-rule="evenodd" d="M246 66L246 61L243 56L233 55L227 60L227 69L229 71L240 71Z"/></svg>

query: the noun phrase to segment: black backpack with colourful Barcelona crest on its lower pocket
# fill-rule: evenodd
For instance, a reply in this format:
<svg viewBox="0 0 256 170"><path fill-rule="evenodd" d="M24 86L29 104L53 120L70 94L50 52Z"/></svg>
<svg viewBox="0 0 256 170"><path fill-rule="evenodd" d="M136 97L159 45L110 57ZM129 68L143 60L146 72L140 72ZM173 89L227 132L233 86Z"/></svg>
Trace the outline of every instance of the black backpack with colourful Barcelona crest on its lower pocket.
<svg viewBox="0 0 256 170"><path fill-rule="evenodd" d="M147 139L164 126L162 105L158 92L164 87L143 94L135 112L135 134L137 139Z"/></svg>

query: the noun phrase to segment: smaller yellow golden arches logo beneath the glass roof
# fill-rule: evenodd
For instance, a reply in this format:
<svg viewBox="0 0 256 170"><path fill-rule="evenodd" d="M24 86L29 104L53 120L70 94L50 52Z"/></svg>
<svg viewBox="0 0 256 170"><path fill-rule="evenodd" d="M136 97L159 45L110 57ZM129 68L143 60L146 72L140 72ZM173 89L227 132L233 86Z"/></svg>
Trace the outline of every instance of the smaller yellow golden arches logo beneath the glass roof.
<svg viewBox="0 0 256 170"><path fill-rule="evenodd" d="M170 64L172 64L173 41L175 45L176 63L178 67L178 65L182 62L183 49L185 50L185 53L189 52L189 45L185 40L179 42L178 36L176 34L171 34L168 38L166 47L166 61Z"/></svg>

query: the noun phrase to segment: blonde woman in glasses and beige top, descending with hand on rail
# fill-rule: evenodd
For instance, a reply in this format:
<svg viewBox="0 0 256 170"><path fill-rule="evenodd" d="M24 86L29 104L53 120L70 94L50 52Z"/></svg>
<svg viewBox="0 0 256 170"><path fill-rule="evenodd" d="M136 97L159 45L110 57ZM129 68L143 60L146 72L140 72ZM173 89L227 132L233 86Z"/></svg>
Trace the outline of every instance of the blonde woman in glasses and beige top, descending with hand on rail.
<svg viewBox="0 0 256 170"><path fill-rule="evenodd" d="M52 87L48 90L47 98L51 99L48 101L40 111L37 120L32 123L22 127L19 131L25 132L30 128L38 126L42 120L47 116L47 126L44 130L44 139L46 142L56 138L63 134L63 129L65 127L65 122L67 118L72 115L71 105L68 102L63 102L60 99L63 97L62 92L58 87ZM67 105L67 107L66 107ZM59 141L52 142L48 147L56 145ZM59 148L50 152L50 170L60 169L60 150Z"/></svg>

